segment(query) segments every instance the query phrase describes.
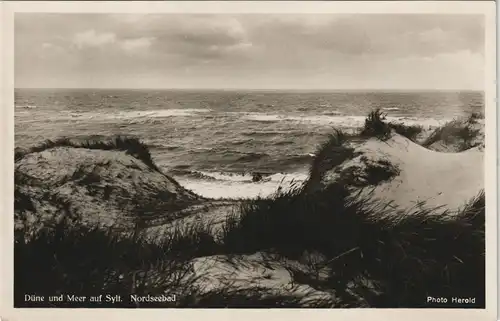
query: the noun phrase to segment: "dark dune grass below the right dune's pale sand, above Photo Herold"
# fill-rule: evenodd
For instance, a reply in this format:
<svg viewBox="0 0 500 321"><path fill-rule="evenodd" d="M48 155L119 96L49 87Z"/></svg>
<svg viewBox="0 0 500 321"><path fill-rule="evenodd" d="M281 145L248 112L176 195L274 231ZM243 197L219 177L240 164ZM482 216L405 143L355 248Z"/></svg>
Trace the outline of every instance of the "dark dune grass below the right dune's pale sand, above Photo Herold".
<svg viewBox="0 0 500 321"><path fill-rule="evenodd" d="M371 307L431 307L427 295L475 297L474 306L484 307L484 194L451 218L425 206L398 212L341 186L314 196L299 191L243 204L225 227L225 250L291 259L318 251L332 272L315 282L349 301L349 283L370 280L376 290L357 291Z"/></svg>

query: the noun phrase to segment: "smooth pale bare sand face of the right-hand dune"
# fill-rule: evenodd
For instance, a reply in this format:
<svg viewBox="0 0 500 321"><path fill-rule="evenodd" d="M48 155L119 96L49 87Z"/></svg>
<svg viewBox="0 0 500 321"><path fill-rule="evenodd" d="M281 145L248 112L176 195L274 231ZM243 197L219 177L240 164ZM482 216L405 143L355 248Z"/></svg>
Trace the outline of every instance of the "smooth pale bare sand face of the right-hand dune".
<svg viewBox="0 0 500 321"><path fill-rule="evenodd" d="M484 153L479 148L461 153L436 152L398 134L387 141L371 138L354 148L359 155L326 171L322 185L336 181L350 167L366 173L368 159L371 163L388 162L399 172L376 185L373 196L402 208L425 201L430 207L455 210L484 188Z"/></svg>

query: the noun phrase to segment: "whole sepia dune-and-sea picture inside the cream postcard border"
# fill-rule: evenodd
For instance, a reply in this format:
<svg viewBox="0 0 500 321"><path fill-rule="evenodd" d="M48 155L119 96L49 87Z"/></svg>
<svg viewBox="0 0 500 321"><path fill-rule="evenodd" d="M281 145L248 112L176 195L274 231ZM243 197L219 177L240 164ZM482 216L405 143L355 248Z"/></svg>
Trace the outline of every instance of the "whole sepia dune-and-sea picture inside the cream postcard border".
<svg viewBox="0 0 500 321"><path fill-rule="evenodd" d="M16 12L13 306L484 310L486 26Z"/></svg>

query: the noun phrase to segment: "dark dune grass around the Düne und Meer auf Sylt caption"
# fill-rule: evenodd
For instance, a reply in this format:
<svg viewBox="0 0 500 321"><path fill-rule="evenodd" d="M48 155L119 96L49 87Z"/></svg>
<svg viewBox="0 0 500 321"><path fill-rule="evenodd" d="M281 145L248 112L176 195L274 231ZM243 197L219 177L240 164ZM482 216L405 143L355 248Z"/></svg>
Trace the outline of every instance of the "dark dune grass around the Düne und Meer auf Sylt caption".
<svg viewBox="0 0 500 321"><path fill-rule="evenodd" d="M80 308L298 308L301 298L269 293L255 286L231 285L207 290L197 283L206 275L193 273L190 259L223 253L206 226L175 229L154 240L144 234L66 224L43 230L29 241L15 234L14 306ZM36 267L36 268L34 268ZM201 283L202 284L202 283ZM25 294L120 296L121 302L26 302ZM130 295L176 295L175 302L136 303ZM329 307L311 298L314 307Z"/></svg>

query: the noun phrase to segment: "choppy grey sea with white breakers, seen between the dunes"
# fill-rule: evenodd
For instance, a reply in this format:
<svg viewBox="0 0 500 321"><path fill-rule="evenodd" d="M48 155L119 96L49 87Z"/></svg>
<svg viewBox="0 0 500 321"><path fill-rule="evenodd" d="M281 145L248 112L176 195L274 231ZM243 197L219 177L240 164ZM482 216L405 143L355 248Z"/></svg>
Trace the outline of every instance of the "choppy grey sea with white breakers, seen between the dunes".
<svg viewBox="0 0 500 321"><path fill-rule="evenodd" d="M307 178L319 144L380 108L432 129L483 112L478 91L16 89L15 144L137 136L155 163L206 197L268 196ZM262 179L256 179L260 173Z"/></svg>

